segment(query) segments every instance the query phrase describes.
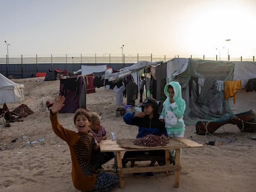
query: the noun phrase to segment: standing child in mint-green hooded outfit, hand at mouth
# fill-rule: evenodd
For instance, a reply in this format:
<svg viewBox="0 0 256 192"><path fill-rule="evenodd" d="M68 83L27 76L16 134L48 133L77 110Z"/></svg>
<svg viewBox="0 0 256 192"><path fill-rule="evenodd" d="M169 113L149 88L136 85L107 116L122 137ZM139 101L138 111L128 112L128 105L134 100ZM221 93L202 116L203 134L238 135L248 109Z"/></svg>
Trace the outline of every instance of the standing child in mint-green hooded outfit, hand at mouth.
<svg viewBox="0 0 256 192"><path fill-rule="evenodd" d="M159 117L165 123L165 128L169 137L184 137L185 124L183 120L186 102L181 96L181 85L176 81L171 81L164 86L166 99L163 102L163 111ZM174 160L174 150L170 151L171 160Z"/></svg>

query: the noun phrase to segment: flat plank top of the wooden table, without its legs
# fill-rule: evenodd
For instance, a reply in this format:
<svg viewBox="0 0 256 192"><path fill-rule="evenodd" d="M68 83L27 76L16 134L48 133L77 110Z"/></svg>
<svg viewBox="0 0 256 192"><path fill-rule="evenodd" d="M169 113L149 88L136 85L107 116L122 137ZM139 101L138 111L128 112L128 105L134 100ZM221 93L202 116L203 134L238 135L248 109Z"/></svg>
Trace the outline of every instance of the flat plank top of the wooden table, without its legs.
<svg viewBox="0 0 256 192"><path fill-rule="evenodd" d="M128 139L131 142L135 139ZM169 138L169 143L166 146L160 147L144 147L137 146L135 144L130 144L127 148L122 148L117 144L116 141L112 140L102 140L100 141L101 152L111 152L111 151L150 151L150 150L164 150L164 149L179 149L179 148L201 148L203 144L196 143L195 141L189 140L187 138Z"/></svg>

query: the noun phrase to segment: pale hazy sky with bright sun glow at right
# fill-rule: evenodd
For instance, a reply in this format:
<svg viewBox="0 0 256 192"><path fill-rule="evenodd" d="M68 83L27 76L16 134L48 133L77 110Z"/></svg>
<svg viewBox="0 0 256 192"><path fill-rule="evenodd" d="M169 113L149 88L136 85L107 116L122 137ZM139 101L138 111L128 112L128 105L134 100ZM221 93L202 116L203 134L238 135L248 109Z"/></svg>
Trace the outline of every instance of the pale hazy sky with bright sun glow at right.
<svg viewBox="0 0 256 192"><path fill-rule="evenodd" d="M0 0L0 57L256 55L255 0ZM231 41L225 41L231 39ZM224 47L224 48L223 48ZM216 50L218 48L218 50Z"/></svg>

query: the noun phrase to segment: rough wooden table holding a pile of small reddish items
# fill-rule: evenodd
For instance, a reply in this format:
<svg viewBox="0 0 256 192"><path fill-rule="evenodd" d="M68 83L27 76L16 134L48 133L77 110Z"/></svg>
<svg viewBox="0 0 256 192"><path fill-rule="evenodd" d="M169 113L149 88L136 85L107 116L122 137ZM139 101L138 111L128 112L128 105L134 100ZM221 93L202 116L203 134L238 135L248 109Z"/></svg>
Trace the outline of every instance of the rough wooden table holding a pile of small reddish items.
<svg viewBox="0 0 256 192"><path fill-rule="evenodd" d="M181 148L200 148L203 144L196 143L195 141L189 140L187 138L170 138L169 144L164 147L157 148L121 148L116 141L112 140L102 140L100 141L101 152L116 152L116 162L117 162L117 173L119 175L120 187L124 188L124 173L144 173L144 172L163 172L169 173L170 170L175 171L175 183L174 187L179 187L179 170L181 170L180 156L176 155L175 165L170 165L169 159L169 149L175 149L176 154L179 154ZM151 150L164 150L165 151L165 161L166 164L163 166L154 167L126 167L122 168L122 158L121 152L126 151L151 151Z"/></svg>

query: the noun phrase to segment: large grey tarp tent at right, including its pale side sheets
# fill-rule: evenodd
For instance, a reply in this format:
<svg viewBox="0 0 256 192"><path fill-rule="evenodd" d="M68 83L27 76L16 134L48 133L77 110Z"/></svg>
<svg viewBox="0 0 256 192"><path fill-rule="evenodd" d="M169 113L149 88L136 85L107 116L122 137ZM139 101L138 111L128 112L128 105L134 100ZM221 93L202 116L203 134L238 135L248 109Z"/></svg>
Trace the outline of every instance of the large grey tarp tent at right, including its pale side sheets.
<svg viewBox="0 0 256 192"><path fill-rule="evenodd" d="M184 120L195 124L198 120L220 120L233 116L224 91L216 88L220 81L242 80L242 87L256 74L254 62L205 61L174 58L166 62L167 81L178 81L182 98L186 101ZM252 66L255 67L252 67ZM236 67L239 67L236 69ZM248 67L249 66L249 67ZM238 70L239 69L239 70Z"/></svg>

